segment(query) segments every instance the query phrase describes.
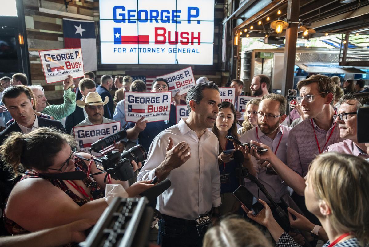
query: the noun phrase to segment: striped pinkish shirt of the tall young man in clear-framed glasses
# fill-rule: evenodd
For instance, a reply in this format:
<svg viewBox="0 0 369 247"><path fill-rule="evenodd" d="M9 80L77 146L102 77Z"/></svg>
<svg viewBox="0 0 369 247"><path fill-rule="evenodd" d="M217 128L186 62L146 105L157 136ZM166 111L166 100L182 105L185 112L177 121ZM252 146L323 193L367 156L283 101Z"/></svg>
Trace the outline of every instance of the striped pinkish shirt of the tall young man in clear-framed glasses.
<svg viewBox="0 0 369 247"><path fill-rule="evenodd" d="M335 122L333 121L331 128L325 131L315 124L314 119L313 125L311 124L311 119L305 119L292 128L288 136L287 166L302 177L305 177L310 162L319 154L314 129L322 153L329 145L343 141L343 139L339 137L339 128L336 126L327 145L325 145L334 124Z"/></svg>

